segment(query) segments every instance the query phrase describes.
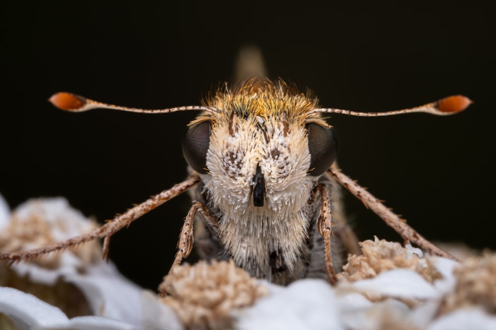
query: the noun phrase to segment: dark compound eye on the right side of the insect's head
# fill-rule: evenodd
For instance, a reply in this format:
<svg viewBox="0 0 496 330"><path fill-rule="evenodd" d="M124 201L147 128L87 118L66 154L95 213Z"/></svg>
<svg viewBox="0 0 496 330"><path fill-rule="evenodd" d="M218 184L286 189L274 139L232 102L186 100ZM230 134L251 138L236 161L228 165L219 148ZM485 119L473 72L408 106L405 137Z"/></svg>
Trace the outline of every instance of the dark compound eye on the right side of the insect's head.
<svg viewBox="0 0 496 330"><path fill-rule="evenodd" d="M314 122L307 125L311 176L322 175L336 160L338 150L334 131L330 127L324 127Z"/></svg>

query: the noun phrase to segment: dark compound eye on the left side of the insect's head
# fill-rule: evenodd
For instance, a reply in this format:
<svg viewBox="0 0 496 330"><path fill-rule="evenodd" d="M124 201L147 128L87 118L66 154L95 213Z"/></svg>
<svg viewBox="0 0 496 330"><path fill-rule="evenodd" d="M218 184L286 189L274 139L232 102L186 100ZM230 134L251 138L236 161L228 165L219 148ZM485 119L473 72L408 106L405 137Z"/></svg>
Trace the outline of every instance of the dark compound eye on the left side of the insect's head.
<svg viewBox="0 0 496 330"><path fill-rule="evenodd" d="M201 174L207 173L207 151L210 145L210 121L188 127L183 137L183 155L187 164Z"/></svg>

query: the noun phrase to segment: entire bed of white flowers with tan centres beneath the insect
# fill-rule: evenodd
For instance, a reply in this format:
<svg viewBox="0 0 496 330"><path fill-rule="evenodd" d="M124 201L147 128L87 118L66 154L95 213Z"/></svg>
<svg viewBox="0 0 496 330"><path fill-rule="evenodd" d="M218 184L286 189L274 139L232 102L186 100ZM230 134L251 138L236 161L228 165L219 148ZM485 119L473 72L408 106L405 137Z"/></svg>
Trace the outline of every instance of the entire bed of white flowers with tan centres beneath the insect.
<svg viewBox="0 0 496 330"><path fill-rule="evenodd" d="M28 201L10 217L0 196L1 252L65 240L96 225L60 198ZM243 330L496 329L496 255L487 253L458 263L424 257L418 249L384 240L365 241L361 246L363 255L349 257L336 286L302 279L282 287L250 278L232 263L207 266L200 262L167 276L161 289L169 295L159 298L103 262L98 244L83 245L0 269L0 281L16 278L13 283L28 281L26 287L45 286L48 292L59 292L62 300L67 298L64 293L73 298L74 292L81 292L94 316L71 318L65 310L7 287L0 287L0 314L17 329L26 330L181 330L184 327L175 313L188 324L186 312L192 320L210 315L211 325L229 324ZM5 276L6 272L11 273ZM229 276L235 273L239 280ZM248 284L252 289L245 290ZM57 290L61 285L63 290ZM261 290L264 287L268 292ZM239 292L258 289L260 294L245 294L250 297L248 303L228 301L239 302L243 296ZM69 303L69 307L84 305Z"/></svg>

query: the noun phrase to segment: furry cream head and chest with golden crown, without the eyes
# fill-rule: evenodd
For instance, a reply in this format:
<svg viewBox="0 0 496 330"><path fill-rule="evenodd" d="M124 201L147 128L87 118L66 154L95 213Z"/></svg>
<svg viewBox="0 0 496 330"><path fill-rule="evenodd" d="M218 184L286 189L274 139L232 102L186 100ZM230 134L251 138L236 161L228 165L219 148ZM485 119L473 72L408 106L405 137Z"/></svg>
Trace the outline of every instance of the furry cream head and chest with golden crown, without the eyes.
<svg viewBox="0 0 496 330"><path fill-rule="evenodd" d="M227 252L253 275L270 274L276 253L290 272L308 237L309 122L328 125L316 99L279 82L253 79L217 92L190 127L208 122L209 146L200 177L210 207L219 210L219 235ZM242 239L240 239L240 237ZM249 247L249 248L248 248Z"/></svg>

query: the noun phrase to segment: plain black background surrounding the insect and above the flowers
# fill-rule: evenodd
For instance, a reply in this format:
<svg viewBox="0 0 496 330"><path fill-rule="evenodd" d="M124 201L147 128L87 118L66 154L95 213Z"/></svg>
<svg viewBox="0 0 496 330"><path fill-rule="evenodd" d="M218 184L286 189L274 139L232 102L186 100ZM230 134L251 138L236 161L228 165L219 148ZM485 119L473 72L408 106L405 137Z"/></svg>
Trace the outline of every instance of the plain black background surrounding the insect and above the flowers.
<svg viewBox="0 0 496 330"><path fill-rule="evenodd" d="M194 112L65 113L47 102L50 95L71 91L142 108L198 105L202 93L231 78L240 47L256 44L271 77L311 88L324 107L381 111L453 94L473 99L453 116L333 115L330 122L343 172L420 233L496 249L488 8L45 2L1 4L0 193L12 208L64 196L103 221L186 176L181 138ZM345 198L362 239L399 240ZM181 196L114 235L111 259L124 275L157 287L188 208Z"/></svg>

